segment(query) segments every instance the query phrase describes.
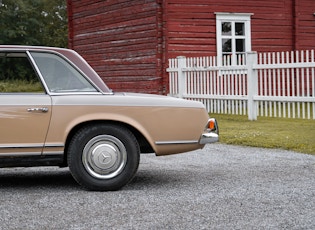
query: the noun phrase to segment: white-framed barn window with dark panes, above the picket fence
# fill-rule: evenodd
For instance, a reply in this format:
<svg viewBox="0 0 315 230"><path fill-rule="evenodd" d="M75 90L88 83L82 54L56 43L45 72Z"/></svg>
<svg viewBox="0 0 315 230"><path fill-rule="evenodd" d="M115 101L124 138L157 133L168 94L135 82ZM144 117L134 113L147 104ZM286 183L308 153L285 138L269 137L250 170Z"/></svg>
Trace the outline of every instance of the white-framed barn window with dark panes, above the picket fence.
<svg viewBox="0 0 315 230"><path fill-rule="evenodd" d="M218 64L245 64L245 54L251 51L250 17L252 14L215 14Z"/></svg>

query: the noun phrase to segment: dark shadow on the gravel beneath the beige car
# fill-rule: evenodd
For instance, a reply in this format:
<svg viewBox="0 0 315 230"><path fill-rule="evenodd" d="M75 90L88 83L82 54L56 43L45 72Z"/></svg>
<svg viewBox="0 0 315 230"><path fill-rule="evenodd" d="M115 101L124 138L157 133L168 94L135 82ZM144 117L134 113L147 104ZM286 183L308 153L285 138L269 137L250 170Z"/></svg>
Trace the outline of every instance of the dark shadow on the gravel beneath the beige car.
<svg viewBox="0 0 315 230"><path fill-rule="evenodd" d="M177 171L139 170L123 190L152 190L181 187L191 181ZM12 168L0 169L0 191L5 190L67 190L84 189L73 179L68 168Z"/></svg>

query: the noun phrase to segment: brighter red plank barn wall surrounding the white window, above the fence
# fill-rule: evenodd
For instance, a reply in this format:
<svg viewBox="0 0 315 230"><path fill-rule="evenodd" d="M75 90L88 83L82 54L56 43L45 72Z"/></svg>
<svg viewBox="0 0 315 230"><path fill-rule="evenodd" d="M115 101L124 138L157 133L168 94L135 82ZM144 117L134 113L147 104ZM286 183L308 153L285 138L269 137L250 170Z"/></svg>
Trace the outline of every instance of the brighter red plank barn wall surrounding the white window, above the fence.
<svg viewBox="0 0 315 230"><path fill-rule="evenodd" d="M253 13L252 50L315 48L314 0L167 0L167 55L215 56L215 12Z"/></svg>

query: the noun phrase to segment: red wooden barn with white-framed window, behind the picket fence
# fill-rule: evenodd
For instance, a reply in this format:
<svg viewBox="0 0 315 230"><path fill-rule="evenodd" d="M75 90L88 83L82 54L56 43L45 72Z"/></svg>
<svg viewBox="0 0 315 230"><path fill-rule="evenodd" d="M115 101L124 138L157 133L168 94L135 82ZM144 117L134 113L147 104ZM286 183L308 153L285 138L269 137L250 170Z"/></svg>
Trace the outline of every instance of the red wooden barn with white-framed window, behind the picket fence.
<svg viewBox="0 0 315 230"><path fill-rule="evenodd" d="M314 0L68 0L68 16L69 48L115 91L167 93L176 56L315 48Z"/></svg>

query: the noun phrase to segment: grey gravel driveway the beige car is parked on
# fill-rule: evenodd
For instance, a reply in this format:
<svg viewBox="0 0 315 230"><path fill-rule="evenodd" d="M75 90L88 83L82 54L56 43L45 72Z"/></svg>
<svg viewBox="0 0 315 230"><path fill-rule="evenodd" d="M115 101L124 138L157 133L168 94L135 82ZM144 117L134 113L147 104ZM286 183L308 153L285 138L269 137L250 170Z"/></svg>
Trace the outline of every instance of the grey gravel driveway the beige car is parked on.
<svg viewBox="0 0 315 230"><path fill-rule="evenodd" d="M116 192L87 192L68 169L0 169L0 229L315 229L315 156L207 145L142 155Z"/></svg>

